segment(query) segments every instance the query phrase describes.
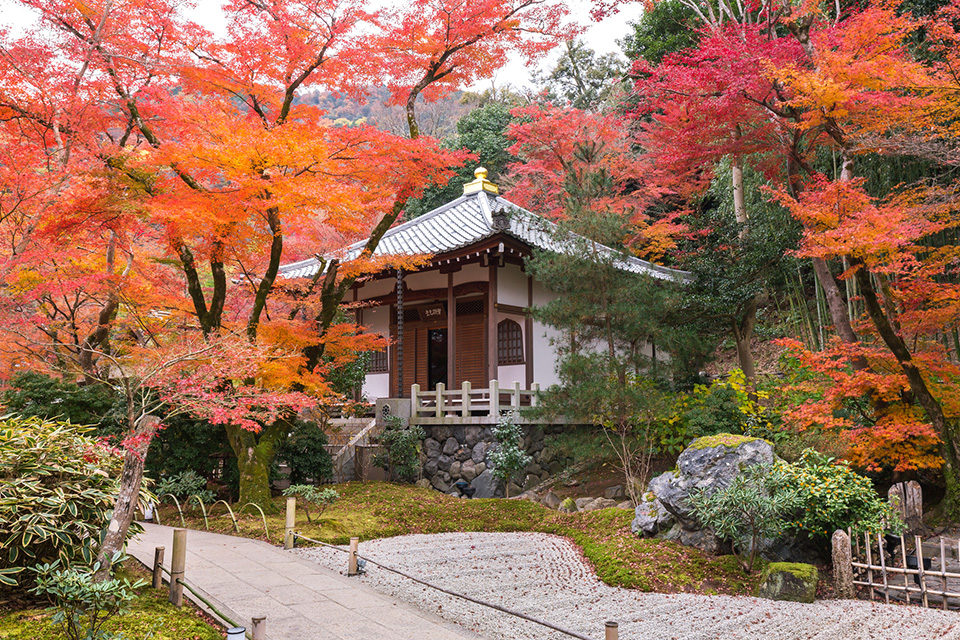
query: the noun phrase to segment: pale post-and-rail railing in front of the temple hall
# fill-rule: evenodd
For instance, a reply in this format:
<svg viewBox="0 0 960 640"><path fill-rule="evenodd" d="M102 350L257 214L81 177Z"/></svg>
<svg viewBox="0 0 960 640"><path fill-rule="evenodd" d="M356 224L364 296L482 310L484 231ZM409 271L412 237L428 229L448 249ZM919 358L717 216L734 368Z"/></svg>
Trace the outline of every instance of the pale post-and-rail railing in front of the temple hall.
<svg viewBox="0 0 960 640"><path fill-rule="evenodd" d="M442 382L433 391L421 391L420 385L410 387L411 416L415 420L442 420L446 418L488 418L496 420L501 411L520 410L537 406L540 385L521 389L520 383L500 388L496 380L486 389L474 389L464 382L459 389L447 389Z"/></svg>

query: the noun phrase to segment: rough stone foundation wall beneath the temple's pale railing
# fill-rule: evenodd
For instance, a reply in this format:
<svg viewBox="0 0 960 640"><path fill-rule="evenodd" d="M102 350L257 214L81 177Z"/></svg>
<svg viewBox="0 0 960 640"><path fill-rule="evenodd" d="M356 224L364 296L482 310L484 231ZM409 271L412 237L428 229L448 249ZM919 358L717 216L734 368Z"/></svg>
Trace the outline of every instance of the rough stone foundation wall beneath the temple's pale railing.
<svg viewBox="0 0 960 640"><path fill-rule="evenodd" d="M562 471L570 459L544 449L544 436L556 433L561 425L524 425L523 448L533 461L518 474L519 484L511 484L510 495L518 495L551 475ZM493 477L489 453L497 446L491 425L423 425L427 437L423 441L425 454L423 477L437 491L457 493L458 481L467 482L474 490L474 498L500 498L504 495L502 483Z"/></svg>

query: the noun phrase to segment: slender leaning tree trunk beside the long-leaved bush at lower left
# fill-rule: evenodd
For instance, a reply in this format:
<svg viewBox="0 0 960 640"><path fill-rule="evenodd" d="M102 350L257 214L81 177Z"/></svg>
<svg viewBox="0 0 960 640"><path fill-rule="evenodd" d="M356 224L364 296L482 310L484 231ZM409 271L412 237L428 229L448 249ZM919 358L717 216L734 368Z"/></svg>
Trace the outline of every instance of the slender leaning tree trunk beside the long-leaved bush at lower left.
<svg viewBox="0 0 960 640"><path fill-rule="evenodd" d="M113 555L123 549L127 540L127 532L140 499L147 448L159 425L160 418L147 414L141 416L132 429L134 444L127 447L123 456L123 470L120 472L120 487L113 503L113 515L97 554L100 568L97 569L95 578L98 581L109 579Z"/></svg>

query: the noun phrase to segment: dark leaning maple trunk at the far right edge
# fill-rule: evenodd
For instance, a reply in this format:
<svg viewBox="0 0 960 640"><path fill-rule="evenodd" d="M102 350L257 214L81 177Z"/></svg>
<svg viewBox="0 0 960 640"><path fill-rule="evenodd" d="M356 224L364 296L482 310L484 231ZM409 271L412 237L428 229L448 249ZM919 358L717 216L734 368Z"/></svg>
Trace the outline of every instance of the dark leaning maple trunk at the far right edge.
<svg viewBox="0 0 960 640"><path fill-rule="evenodd" d="M867 315L870 316L870 320L887 348L897 359L907 382L910 384L910 391L913 392L914 397L923 407L924 413L927 414L927 419L930 420L933 428L940 436L940 454L944 460L943 477L947 485L944 507L949 517L960 517L960 455L958 455L958 451L960 451L960 424L957 420L948 419L944 415L943 406L934 397L927 381L923 378L923 373L914 364L913 355L897 332L894 321L884 312L866 265L858 259L851 259L850 265L857 268L855 277L857 284L860 286L860 293L863 297Z"/></svg>

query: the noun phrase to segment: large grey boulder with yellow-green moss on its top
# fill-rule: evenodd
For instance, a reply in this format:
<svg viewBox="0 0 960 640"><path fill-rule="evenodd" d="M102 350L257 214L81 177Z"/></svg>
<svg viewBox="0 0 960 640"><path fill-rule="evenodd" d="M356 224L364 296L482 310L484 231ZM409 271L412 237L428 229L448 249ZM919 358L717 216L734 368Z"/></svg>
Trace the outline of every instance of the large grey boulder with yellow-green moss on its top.
<svg viewBox="0 0 960 640"><path fill-rule="evenodd" d="M726 487L747 467L773 464L773 445L760 438L721 433L697 438L680 457L677 468L650 481L653 493L685 529L699 529L690 509L690 493Z"/></svg>

